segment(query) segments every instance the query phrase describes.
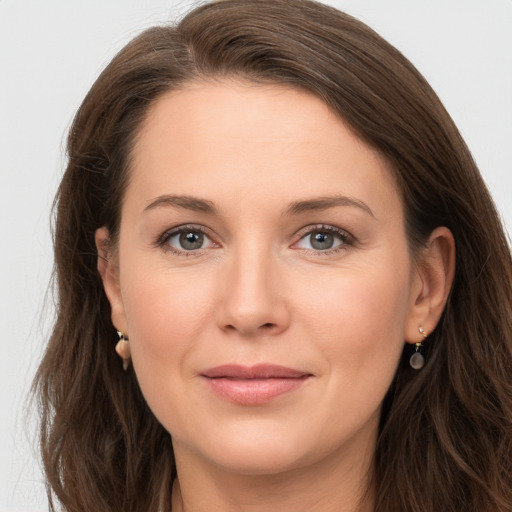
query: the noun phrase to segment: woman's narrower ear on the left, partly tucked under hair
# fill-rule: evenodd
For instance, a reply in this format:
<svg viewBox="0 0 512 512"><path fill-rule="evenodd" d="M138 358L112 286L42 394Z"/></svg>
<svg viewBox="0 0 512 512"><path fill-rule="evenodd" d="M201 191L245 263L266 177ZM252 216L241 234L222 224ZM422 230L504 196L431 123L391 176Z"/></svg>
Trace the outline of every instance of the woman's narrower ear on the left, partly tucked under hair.
<svg viewBox="0 0 512 512"><path fill-rule="evenodd" d="M110 234L106 227L96 230L96 249L98 251L98 272L103 281L103 288L110 302L111 318L114 327L127 333L124 304L119 283L119 261L110 245Z"/></svg>

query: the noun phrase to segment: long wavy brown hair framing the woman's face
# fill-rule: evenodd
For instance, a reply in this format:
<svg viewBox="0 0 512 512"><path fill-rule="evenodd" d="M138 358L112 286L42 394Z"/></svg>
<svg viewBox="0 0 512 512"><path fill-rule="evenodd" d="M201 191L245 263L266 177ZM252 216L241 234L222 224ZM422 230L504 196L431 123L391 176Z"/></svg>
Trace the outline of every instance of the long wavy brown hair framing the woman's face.
<svg viewBox="0 0 512 512"><path fill-rule="evenodd" d="M58 317L35 386L50 500L68 512L170 510L171 438L114 352L95 230L115 243L149 107L197 79L317 95L388 160L414 251L437 226L456 275L420 372L401 364L375 454L378 512L512 510L512 262L468 148L430 86L363 23L309 0L224 0L149 29L76 114L56 198ZM407 357L404 349L404 361Z"/></svg>

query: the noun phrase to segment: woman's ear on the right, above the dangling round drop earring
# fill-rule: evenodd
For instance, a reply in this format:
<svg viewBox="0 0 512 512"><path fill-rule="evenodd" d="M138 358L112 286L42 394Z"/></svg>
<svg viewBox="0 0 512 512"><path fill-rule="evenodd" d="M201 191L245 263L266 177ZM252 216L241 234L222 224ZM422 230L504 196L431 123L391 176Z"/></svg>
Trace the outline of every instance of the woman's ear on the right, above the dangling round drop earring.
<svg viewBox="0 0 512 512"><path fill-rule="evenodd" d="M416 257L413 269L409 315L405 340L417 343L423 340L421 326L431 333L450 294L455 274L455 241L451 231L439 227L432 231L424 249Z"/></svg>

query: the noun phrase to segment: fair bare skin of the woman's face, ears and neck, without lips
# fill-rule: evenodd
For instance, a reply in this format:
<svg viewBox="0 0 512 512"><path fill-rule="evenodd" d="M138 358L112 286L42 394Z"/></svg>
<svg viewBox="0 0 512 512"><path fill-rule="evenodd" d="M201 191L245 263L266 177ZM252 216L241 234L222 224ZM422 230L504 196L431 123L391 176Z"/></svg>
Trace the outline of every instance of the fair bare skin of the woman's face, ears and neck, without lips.
<svg viewBox="0 0 512 512"><path fill-rule="evenodd" d="M96 234L98 268L142 392L172 435L173 511L372 510L381 403L404 341L442 313L450 232L435 230L413 258L384 159L321 100L282 86L164 95L132 163L114 253L108 231ZM172 230L184 225L204 230L200 249L180 245ZM313 246L312 232L333 247ZM226 363L310 377L243 405L201 377Z"/></svg>

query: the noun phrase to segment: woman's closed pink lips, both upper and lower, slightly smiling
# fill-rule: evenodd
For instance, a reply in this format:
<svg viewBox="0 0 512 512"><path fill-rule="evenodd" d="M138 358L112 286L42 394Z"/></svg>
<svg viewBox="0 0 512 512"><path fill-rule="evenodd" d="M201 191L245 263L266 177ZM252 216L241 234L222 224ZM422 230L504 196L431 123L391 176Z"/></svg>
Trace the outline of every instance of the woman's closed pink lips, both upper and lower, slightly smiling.
<svg viewBox="0 0 512 512"><path fill-rule="evenodd" d="M214 393L240 405L265 404L298 390L313 376L272 364L222 365L209 368L200 375Z"/></svg>

